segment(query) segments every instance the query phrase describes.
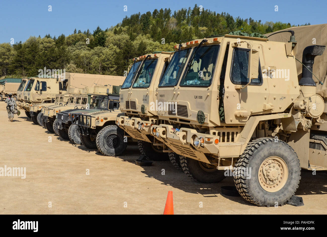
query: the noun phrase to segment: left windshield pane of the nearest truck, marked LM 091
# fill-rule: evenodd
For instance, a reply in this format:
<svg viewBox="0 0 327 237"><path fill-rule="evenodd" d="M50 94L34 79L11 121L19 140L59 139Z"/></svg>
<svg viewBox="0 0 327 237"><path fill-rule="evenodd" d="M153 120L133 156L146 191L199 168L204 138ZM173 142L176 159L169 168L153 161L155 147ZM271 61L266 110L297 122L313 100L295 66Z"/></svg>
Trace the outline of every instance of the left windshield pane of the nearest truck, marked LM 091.
<svg viewBox="0 0 327 237"><path fill-rule="evenodd" d="M168 68L166 69L163 77L160 80L159 86L176 86L180 77L183 66L185 65L186 59L190 54L191 48L181 50L180 55L178 52L174 53ZM178 59L180 59L178 61ZM181 69L181 70L180 70Z"/></svg>

